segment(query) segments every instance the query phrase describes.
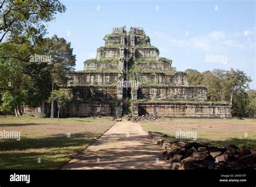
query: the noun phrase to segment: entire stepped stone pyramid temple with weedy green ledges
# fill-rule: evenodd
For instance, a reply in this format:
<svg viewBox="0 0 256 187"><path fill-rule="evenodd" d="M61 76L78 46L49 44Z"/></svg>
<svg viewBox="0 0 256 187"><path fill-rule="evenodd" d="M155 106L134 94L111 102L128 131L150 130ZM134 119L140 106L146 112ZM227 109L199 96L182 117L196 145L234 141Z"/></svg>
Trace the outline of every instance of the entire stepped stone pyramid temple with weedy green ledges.
<svg viewBox="0 0 256 187"><path fill-rule="evenodd" d="M83 71L71 72L68 86L59 87L71 99L60 116L231 117L231 104L208 102L205 87L188 85L187 74L159 57L143 28L113 28L104 40L95 59L86 60Z"/></svg>

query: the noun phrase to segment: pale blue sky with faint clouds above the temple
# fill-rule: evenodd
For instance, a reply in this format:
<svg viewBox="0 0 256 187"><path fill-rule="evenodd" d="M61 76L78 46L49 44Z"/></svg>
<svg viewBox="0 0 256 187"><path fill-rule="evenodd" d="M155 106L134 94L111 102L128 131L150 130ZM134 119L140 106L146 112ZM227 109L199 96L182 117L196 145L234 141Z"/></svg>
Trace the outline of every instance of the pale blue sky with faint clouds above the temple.
<svg viewBox="0 0 256 187"><path fill-rule="evenodd" d="M143 27L160 56L183 71L231 67L255 81L255 1L62 1L67 11L48 24L48 37L71 42L76 70L96 57L112 27ZM206 56L226 57L206 61Z"/></svg>

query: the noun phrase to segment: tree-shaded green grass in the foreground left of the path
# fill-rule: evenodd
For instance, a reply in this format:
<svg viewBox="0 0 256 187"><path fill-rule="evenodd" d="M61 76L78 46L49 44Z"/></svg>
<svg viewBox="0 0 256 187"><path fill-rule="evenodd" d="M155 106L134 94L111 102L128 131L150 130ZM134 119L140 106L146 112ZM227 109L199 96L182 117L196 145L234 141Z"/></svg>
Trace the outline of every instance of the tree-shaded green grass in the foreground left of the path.
<svg viewBox="0 0 256 187"><path fill-rule="evenodd" d="M100 134L56 134L45 138L0 141L0 169L57 169L82 152ZM38 163L41 159L41 163Z"/></svg>

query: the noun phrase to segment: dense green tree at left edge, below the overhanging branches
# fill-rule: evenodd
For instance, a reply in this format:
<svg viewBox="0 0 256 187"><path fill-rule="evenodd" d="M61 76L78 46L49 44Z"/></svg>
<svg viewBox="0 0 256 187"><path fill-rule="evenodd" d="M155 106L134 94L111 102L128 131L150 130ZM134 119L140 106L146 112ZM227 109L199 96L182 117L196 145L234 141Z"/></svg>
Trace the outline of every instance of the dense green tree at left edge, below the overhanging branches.
<svg viewBox="0 0 256 187"><path fill-rule="evenodd" d="M0 89L4 93L1 110L9 111L15 105L16 116L23 114L24 90L30 83L30 76L24 74L26 63L29 60L26 56L28 56L30 46L29 41L22 44L5 42L0 48ZM3 55L9 57L3 57ZM11 99L12 102L5 98Z"/></svg>

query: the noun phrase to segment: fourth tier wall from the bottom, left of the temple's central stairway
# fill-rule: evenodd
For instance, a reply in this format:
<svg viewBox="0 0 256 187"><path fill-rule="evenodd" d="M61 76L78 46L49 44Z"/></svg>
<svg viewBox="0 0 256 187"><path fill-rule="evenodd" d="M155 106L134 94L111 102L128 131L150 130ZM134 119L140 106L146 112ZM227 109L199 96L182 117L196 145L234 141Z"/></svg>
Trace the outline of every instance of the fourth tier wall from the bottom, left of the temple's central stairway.
<svg viewBox="0 0 256 187"><path fill-rule="evenodd" d="M84 70L117 69L118 62L84 62Z"/></svg>

